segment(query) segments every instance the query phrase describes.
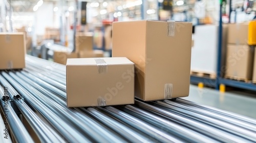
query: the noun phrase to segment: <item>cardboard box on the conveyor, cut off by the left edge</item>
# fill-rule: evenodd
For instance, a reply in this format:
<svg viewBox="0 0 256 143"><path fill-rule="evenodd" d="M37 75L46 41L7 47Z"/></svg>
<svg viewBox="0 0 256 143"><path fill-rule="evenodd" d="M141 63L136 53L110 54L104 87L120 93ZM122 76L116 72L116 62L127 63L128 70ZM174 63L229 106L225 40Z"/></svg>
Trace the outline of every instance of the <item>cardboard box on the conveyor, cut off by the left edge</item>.
<svg viewBox="0 0 256 143"><path fill-rule="evenodd" d="M24 33L0 33L0 69L25 67Z"/></svg>

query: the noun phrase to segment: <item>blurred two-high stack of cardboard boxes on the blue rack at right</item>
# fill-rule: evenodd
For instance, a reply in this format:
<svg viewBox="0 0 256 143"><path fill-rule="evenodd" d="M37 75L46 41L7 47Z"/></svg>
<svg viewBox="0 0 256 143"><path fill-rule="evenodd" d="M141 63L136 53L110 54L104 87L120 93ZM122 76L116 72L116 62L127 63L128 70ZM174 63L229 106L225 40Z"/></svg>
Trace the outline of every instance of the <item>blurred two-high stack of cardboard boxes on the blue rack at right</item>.
<svg viewBox="0 0 256 143"><path fill-rule="evenodd" d="M228 25L225 78L252 80L253 47L248 45L248 23Z"/></svg>

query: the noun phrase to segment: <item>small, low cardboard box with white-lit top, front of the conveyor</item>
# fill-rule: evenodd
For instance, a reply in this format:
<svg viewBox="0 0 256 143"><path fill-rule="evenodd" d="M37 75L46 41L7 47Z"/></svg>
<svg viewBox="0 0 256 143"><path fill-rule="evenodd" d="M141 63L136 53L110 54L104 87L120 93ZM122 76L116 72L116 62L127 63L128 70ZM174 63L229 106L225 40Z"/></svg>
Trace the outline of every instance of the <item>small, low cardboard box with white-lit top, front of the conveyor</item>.
<svg viewBox="0 0 256 143"><path fill-rule="evenodd" d="M80 58L67 62L67 105L134 104L134 63L127 58Z"/></svg>

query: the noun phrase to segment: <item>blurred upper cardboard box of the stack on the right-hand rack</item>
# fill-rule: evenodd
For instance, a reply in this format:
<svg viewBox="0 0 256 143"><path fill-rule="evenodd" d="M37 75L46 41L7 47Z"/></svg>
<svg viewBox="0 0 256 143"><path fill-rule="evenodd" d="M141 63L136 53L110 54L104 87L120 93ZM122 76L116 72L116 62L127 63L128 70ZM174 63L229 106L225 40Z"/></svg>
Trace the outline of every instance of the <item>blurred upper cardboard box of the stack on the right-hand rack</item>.
<svg viewBox="0 0 256 143"><path fill-rule="evenodd" d="M228 25L228 44L247 44L248 23L236 23Z"/></svg>

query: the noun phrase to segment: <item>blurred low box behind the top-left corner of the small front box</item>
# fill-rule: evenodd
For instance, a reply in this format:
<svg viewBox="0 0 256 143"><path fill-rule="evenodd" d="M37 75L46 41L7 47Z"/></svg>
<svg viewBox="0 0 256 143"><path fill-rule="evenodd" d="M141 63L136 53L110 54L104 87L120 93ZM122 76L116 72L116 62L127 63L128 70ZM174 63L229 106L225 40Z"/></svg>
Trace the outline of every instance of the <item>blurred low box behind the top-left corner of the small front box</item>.
<svg viewBox="0 0 256 143"><path fill-rule="evenodd" d="M54 51L53 61L60 64L67 63L68 58L78 58L77 53Z"/></svg>

